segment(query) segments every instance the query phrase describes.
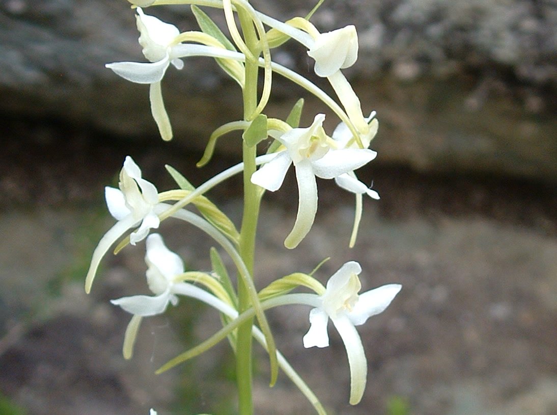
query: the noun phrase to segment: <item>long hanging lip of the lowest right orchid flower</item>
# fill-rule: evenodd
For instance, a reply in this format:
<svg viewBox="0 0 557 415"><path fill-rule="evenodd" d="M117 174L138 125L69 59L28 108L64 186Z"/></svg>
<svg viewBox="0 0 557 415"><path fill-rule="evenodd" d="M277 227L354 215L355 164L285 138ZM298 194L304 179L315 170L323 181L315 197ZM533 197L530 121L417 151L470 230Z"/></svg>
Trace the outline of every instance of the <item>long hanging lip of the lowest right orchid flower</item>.
<svg viewBox="0 0 557 415"><path fill-rule="evenodd" d="M364 395L368 376L368 361L365 359L364 346L354 325L346 316L333 320L333 324L343 339L348 364L350 366L350 404L358 404Z"/></svg>

